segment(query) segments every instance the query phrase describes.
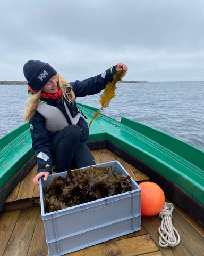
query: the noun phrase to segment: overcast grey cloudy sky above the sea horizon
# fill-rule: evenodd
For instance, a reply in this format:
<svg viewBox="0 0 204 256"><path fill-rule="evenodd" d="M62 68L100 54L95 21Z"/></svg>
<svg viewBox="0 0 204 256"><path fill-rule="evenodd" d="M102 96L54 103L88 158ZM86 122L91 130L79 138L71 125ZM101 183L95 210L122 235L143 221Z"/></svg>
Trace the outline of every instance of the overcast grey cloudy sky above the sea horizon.
<svg viewBox="0 0 204 256"><path fill-rule="evenodd" d="M0 80L29 59L67 81L118 62L125 80L204 80L203 0L0 0Z"/></svg>

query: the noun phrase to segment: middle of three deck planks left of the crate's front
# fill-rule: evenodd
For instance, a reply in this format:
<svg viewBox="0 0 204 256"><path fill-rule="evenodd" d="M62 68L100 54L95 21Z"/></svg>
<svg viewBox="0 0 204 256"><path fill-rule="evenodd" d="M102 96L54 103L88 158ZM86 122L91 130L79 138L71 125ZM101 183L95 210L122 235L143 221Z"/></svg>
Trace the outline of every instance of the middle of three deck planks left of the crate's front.
<svg viewBox="0 0 204 256"><path fill-rule="evenodd" d="M6 250L4 251L4 256L27 255L38 215L39 207L34 207L28 210L21 210L13 233L8 241Z"/></svg>

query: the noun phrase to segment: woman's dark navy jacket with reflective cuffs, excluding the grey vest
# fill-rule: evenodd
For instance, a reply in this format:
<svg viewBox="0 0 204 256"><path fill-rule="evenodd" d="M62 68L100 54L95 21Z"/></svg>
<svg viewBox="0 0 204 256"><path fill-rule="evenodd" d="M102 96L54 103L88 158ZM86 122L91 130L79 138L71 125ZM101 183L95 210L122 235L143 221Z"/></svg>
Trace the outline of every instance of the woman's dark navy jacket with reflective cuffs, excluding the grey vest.
<svg viewBox="0 0 204 256"><path fill-rule="evenodd" d="M99 93L101 90L105 89L108 82L113 81L113 75L116 72L116 66L107 69L105 73L85 79L83 81L70 82L72 90L75 93L75 98L84 97L87 95L94 95ZM49 105L53 105L59 108L65 115L65 109L62 100L54 100L41 98L42 101L47 102ZM66 115L65 115L66 116ZM67 116L66 116L67 118ZM68 117L69 118L69 117ZM69 123L69 120L67 120ZM50 139L57 132L49 132L45 127L45 118L37 111L29 121L30 132L32 137L32 147L35 150L35 155L37 157L38 171L49 171L52 173L52 156L51 156L51 141ZM83 128L83 134L81 136L81 141L87 139L87 134L89 134L89 129L87 122L83 117L80 117L78 125Z"/></svg>

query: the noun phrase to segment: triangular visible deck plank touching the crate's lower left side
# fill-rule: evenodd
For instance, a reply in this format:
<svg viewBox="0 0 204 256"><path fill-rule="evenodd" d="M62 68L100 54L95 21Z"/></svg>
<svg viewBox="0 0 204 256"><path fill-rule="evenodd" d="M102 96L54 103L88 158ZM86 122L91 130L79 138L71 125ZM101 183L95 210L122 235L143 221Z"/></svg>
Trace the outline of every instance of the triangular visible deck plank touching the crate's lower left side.
<svg viewBox="0 0 204 256"><path fill-rule="evenodd" d="M38 220L27 256L43 256L47 254L48 249L45 240L45 229L39 208Z"/></svg>

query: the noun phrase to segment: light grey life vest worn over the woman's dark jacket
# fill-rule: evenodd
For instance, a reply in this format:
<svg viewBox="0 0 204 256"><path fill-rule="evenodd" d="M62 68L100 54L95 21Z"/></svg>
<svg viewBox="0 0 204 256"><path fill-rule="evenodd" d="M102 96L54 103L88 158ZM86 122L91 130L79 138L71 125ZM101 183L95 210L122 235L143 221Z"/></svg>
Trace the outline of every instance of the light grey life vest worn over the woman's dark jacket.
<svg viewBox="0 0 204 256"><path fill-rule="evenodd" d="M75 117L72 117L70 110L67 107L65 101L64 101L64 107L67 115L70 118L71 123L77 124L80 118L79 112ZM46 129L50 132L61 131L64 127L69 125L66 117L64 116L62 111L57 107L51 106L44 102L39 102L36 110L46 119L45 126L46 126Z"/></svg>

